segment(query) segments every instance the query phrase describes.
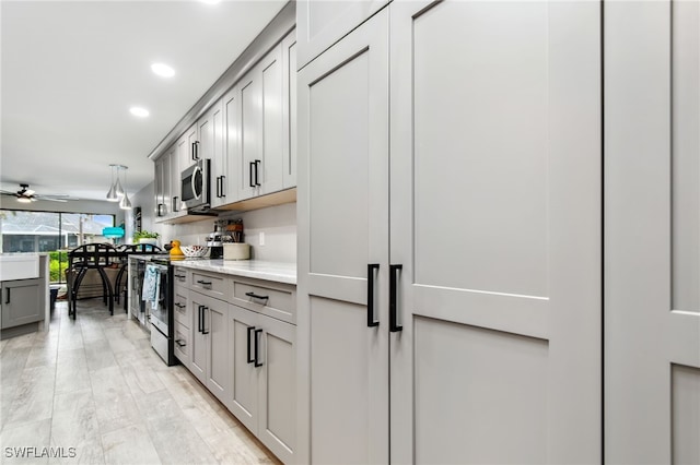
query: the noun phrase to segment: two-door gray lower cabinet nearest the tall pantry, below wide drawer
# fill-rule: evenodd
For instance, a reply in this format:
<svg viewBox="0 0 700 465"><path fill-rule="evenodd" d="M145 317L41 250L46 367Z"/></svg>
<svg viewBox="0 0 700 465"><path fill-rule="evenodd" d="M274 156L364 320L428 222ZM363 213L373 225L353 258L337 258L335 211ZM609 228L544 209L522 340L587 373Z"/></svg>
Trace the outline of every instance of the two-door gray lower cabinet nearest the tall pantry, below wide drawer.
<svg viewBox="0 0 700 465"><path fill-rule="evenodd" d="M296 442L295 327L229 306L229 409L278 458L290 463Z"/></svg>

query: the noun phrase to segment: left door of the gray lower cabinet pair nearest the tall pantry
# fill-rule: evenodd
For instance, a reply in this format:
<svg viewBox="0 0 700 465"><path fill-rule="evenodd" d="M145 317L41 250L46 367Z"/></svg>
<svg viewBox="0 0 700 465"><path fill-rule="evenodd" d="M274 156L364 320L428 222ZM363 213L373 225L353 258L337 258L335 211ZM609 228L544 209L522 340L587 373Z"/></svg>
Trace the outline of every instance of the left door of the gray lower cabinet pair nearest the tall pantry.
<svg viewBox="0 0 700 465"><path fill-rule="evenodd" d="M259 334L258 315L250 310L229 307L231 395L226 405L243 425L254 433L258 430L258 375L255 367L255 338Z"/></svg>

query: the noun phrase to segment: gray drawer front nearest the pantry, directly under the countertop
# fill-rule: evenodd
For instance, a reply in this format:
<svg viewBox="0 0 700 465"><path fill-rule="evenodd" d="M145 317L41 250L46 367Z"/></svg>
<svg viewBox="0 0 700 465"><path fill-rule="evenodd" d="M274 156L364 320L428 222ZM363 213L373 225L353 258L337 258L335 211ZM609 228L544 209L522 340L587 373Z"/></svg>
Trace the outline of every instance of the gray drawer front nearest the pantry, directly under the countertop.
<svg viewBox="0 0 700 465"><path fill-rule="evenodd" d="M296 324L296 287L257 279L233 283L233 303Z"/></svg>

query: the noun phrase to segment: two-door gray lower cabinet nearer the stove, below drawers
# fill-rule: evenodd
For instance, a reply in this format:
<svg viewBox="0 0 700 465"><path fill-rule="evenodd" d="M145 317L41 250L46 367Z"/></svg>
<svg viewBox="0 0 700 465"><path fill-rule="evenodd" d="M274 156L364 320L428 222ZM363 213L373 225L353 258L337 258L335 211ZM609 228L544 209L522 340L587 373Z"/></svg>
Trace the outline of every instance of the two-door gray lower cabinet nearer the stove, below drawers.
<svg viewBox="0 0 700 465"><path fill-rule="evenodd" d="M229 381L228 303L190 289L192 311L190 371L225 403L231 390Z"/></svg>

